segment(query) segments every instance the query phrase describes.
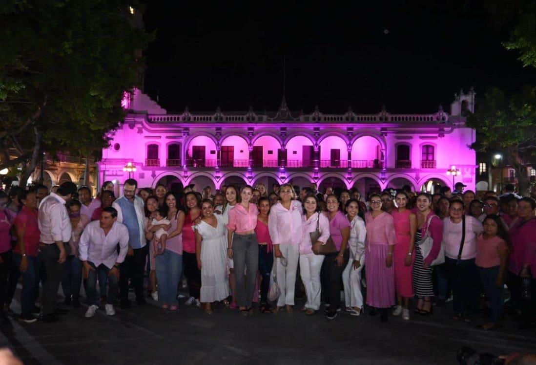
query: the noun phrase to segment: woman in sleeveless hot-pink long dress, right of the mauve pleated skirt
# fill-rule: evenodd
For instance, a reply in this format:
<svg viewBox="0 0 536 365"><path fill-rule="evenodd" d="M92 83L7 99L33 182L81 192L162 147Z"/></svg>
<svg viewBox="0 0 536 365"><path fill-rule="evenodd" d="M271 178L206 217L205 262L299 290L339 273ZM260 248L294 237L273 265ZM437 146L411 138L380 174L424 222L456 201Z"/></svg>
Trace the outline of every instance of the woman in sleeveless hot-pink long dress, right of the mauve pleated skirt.
<svg viewBox="0 0 536 365"><path fill-rule="evenodd" d="M410 319L410 298L413 297L413 245L417 230L417 217L406 209L410 201L405 191L395 196L398 209L393 210L394 232L397 237L397 246L394 249L394 287L397 291L398 305L393 310L393 316L402 315L403 319Z"/></svg>

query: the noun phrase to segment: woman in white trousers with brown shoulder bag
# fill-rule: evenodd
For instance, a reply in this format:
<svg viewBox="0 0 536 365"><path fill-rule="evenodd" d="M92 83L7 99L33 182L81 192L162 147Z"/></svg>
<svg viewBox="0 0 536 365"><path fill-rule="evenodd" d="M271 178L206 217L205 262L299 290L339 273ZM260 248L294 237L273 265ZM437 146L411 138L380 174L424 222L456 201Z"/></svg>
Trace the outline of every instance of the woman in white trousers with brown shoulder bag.
<svg viewBox="0 0 536 365"><path fill-rule="evenodd" d="M303 206L303 237L300 242L300 276L303 287L305 288L307 302L301 311L310 316L314 315L320 309L320 293L322 289L320 270L322 269L322 262L324 262L324 255L316 255L312 252L310 233L318 230L320 236L317 242L326 243L330 237L330 222L320 211L320 206L315 195L306 196Z"/></svg>

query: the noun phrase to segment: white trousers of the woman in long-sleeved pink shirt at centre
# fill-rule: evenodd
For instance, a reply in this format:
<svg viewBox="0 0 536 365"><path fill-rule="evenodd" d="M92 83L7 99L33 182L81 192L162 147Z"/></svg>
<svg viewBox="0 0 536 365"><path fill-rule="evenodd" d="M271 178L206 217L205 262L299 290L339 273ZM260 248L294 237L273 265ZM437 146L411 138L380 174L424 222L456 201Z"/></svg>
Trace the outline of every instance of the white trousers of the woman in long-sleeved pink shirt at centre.
<svg viewBox="0 0 536 365"><path fill-rule="evenodd" d="M281 265L281 259L277 258L276 274L279 289L281 290L277 305L294 305L294 287L300 257L299 247L298 245L279 245L279 250L287 260L287 266Z"/></svg>

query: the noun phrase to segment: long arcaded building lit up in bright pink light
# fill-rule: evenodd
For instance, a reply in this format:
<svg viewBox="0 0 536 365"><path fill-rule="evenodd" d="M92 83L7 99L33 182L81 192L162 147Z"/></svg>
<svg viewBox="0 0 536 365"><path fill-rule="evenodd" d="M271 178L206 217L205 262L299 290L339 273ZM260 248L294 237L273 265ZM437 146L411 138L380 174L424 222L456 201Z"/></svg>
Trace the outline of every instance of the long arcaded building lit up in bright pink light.
<svg viewBox="0 0 536 365"><path fill-rule="evenodd" d="M452 186L446 170L460 170L456 182L475 188L475 131L465 127L474 111L474 92L456 94L450 113L358 114L349 109L325 114L315 109L291 112L283 99L279 110L255 112L167 113L136 90L125 98L128 109L110 148L98 163L99 180L135 178L140 187L292 182L306 187L356 186L373 189L410 185L430 189ZM123 171L128 163L135 172ZM431 182L430 182L431 181Z"/></svg>

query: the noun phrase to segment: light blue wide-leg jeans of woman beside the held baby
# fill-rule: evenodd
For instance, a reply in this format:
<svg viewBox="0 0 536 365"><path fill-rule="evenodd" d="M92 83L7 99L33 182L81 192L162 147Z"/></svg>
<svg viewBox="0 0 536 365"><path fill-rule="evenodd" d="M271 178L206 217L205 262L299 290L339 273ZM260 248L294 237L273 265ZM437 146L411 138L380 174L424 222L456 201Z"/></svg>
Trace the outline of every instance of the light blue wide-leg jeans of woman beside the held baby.
<svg viewBox="0 0 536 365"><path fill-rule="evenodd" d="M156 259L158 301L161 304L176 304L178 281L182 272L182 255L166 249Z"/></svg>

